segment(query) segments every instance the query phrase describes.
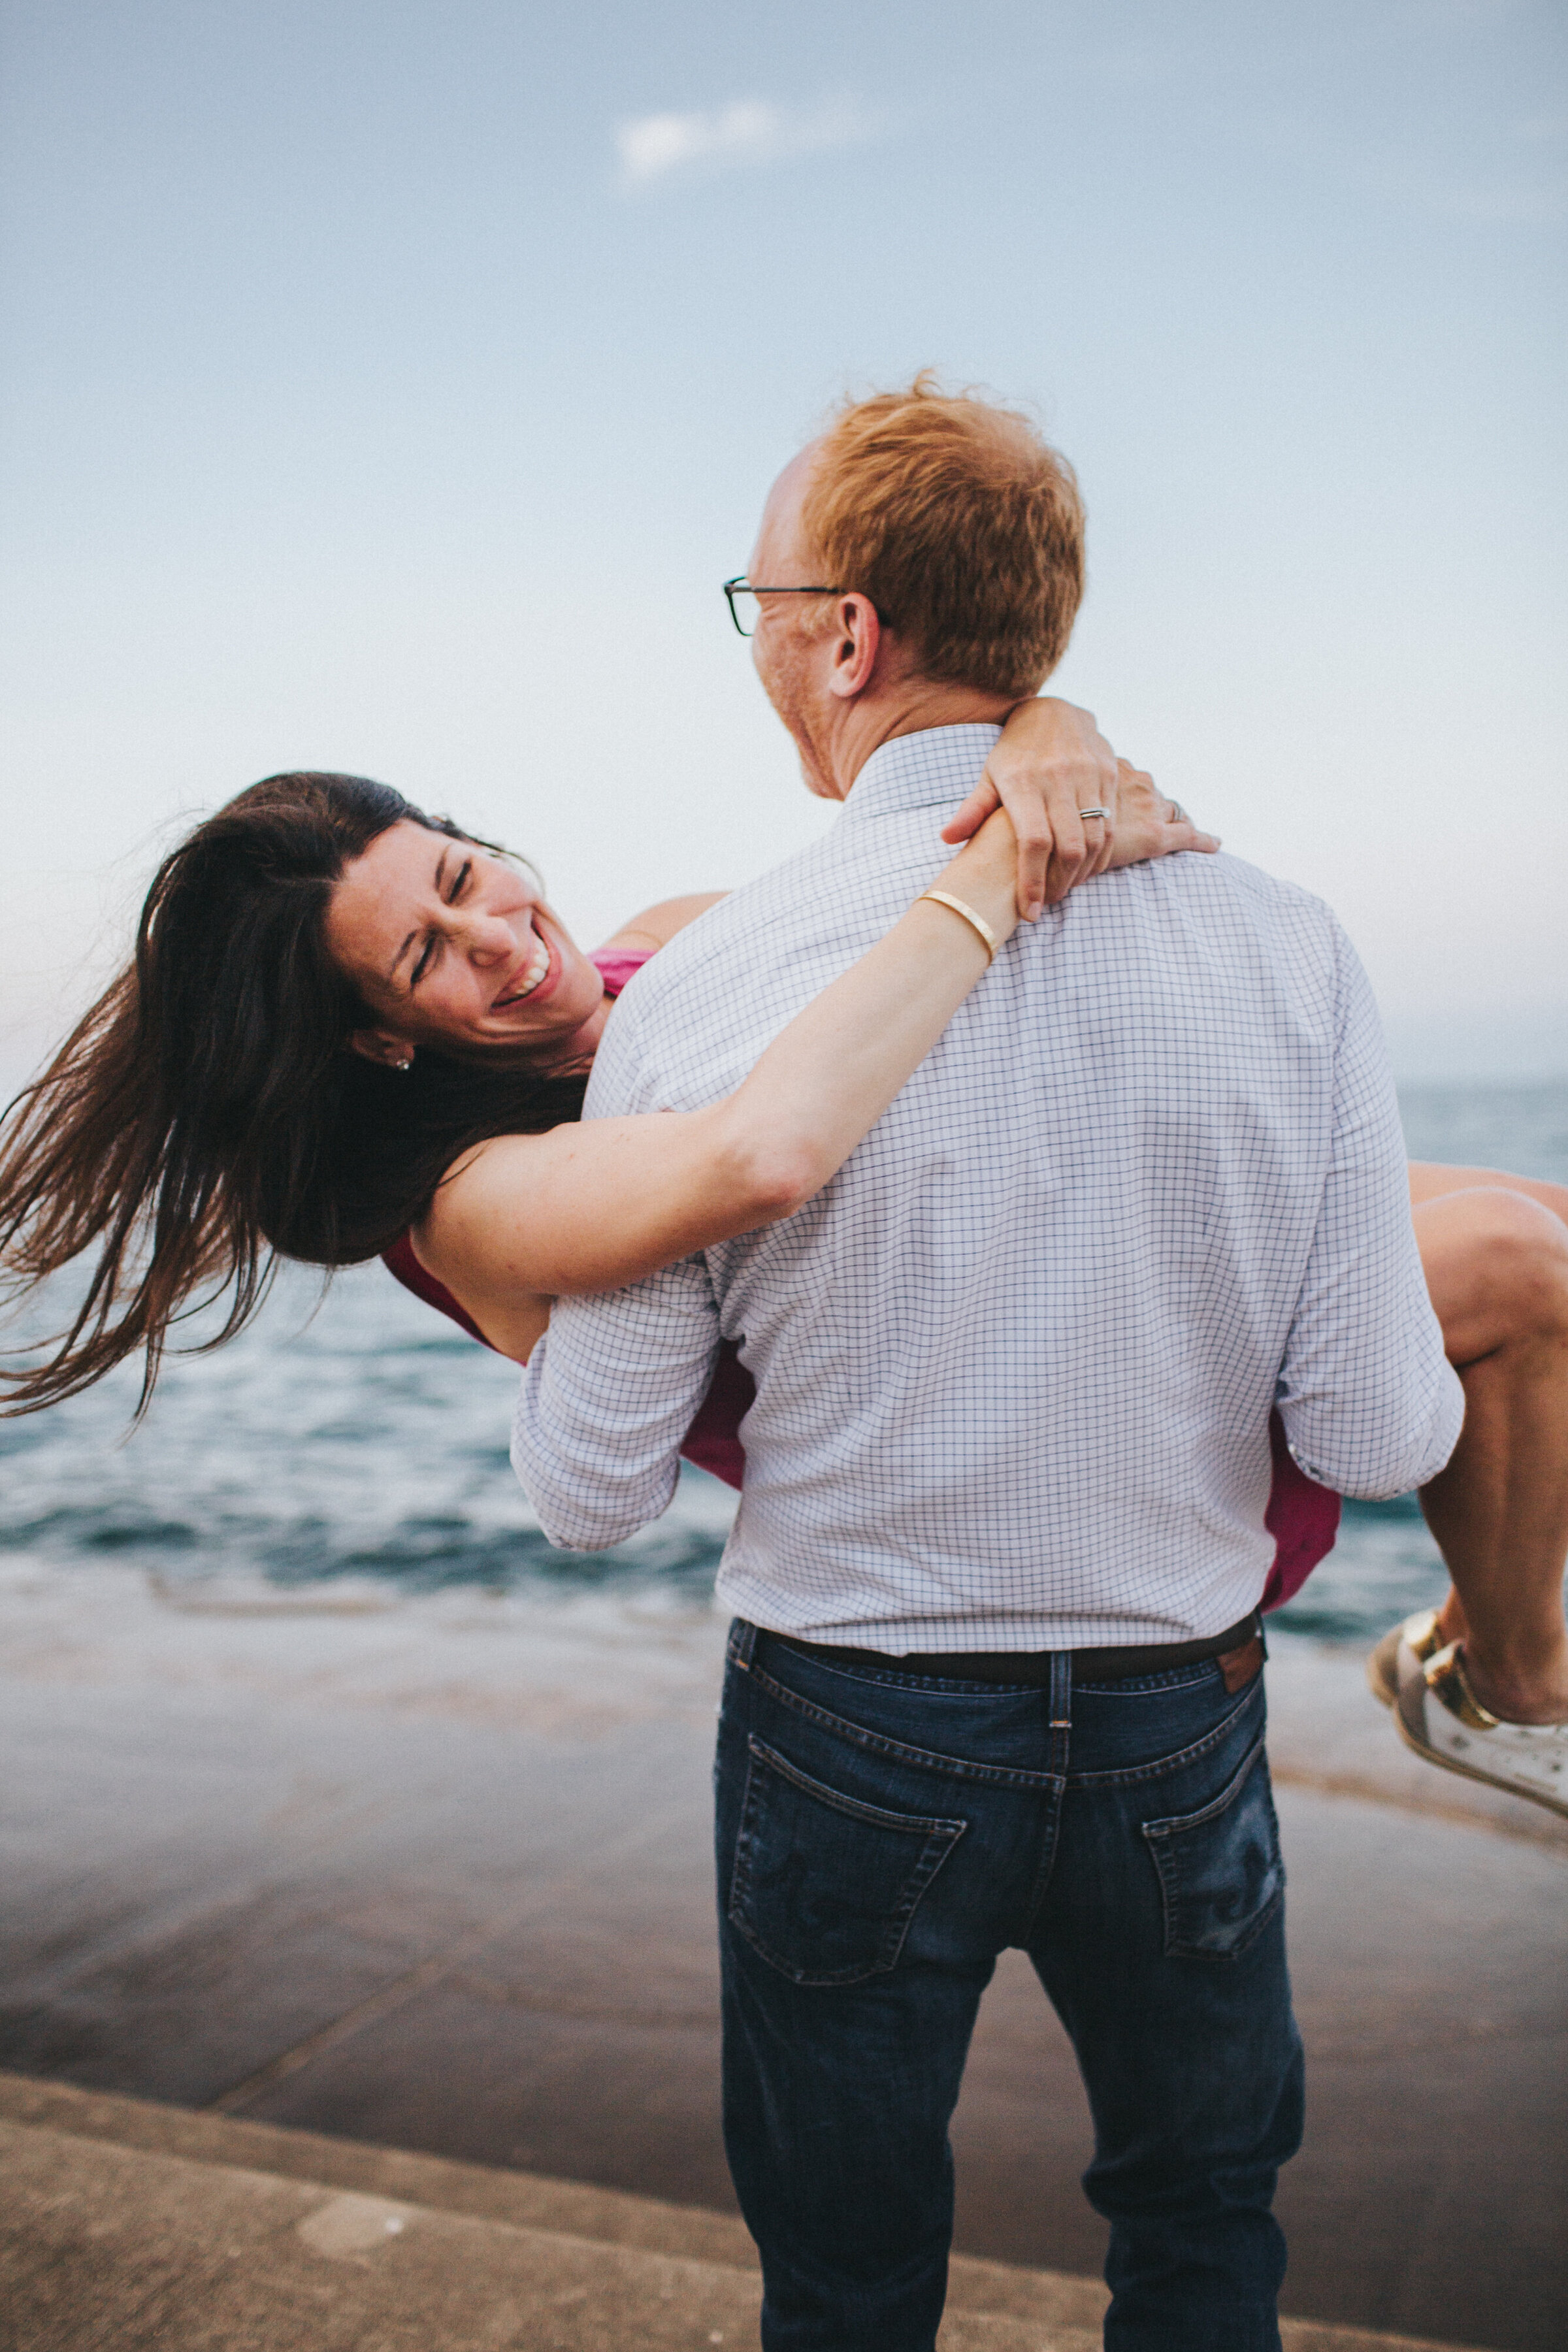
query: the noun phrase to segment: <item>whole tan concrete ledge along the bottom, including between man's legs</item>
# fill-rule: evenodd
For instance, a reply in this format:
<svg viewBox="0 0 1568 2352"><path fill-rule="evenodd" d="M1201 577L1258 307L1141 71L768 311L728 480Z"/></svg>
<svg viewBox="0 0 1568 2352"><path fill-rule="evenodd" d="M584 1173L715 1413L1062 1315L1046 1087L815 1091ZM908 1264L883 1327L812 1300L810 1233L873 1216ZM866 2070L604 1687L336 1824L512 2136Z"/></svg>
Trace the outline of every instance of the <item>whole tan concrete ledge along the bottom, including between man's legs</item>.
<svg viewBox="0 0 1568 2352"><path fill-rule="evenodd" d="M722 2213L0 2074L0 2298L28 2352L757 2343ZM943 2352L1093 2352L1095 2279L954 2258ZM1453 2352L1284 2321L1286 2352Z"/></svg>

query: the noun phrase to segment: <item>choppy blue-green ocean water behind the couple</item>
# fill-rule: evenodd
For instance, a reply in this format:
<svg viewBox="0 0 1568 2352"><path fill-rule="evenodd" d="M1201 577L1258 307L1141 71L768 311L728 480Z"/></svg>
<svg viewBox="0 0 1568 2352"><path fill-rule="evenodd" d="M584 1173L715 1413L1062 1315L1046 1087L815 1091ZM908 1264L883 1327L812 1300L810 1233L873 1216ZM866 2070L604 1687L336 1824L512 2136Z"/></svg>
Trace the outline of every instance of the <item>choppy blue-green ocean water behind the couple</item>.
<svg viewBox="0 0 1568 2352"><path fill-rule="evenodd" d="M1422 1087L1401 1101L1413 1157L1568 1183L1568 1082ZM277 1599L327 1583L642 1585L698 1604L733 1517L729 1489L686 1470L668 1515L630 1543L555 1552L508 1465L515 1385L510 1364L381 1268L341 1275L324 1296L292 1270L230 1348L169 1359L134 1435L129 1369L0 1423L0 1571L120 1562ZM1335 1552L1274 1623L1363 1642L1443 1583L1413 1496L1349 1503Z"/></svg>

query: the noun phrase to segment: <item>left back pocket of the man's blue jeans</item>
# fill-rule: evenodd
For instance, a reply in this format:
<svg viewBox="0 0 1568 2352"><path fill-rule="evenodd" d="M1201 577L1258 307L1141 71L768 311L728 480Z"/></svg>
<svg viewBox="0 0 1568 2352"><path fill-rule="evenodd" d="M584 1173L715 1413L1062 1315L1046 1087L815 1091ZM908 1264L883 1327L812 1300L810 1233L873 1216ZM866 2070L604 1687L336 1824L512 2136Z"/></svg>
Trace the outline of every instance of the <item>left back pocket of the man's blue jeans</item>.
<svg viewBox="0 0 1568 2352"><path fill-rule="evenodd" d="M910 1919L966 1823L889 1813L813 1780L752 1736L731 1926L797 1985L898 1964Z"/></svg>

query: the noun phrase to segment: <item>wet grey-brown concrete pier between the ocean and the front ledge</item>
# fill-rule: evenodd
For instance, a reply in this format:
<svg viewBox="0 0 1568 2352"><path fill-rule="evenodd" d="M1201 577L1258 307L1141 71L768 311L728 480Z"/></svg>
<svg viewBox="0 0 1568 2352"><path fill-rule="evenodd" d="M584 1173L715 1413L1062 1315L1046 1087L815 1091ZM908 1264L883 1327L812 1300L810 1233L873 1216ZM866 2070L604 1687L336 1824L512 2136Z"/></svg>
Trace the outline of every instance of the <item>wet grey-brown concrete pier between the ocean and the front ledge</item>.
<svg viewBox="0 0 1568 2352"><path fill-rule="evenodd" d="M644 2253L712 2260L755 2296L717 2129L719 1651L710 1616L595 1597L388 1606L317 1588L280 1604L115 1569L9 1573L0 2065L40 2098L167 2103L190 2110L181 2126L277 2126L292 2147L303 2131L350 2164L404 2150L463 2176L534 2176L552 2197L654 2199L691 2239ZM1408 1757L1354 1656L1279 1642L1269 1703L1309 2051L1307 2145L1281 2190L1286 2307L1319 2328L1556 2352L1568 1823ZM92 2133L19 2114L24 2093L0 2098L0 2164L12 2190L33 2183L21 2206L68 2213L71 2150L40 2152L38 2136L68 2140L80 2171ZM1098 2296L1084 2098L1018 1955L983 2006L954 2147L961 2253ZM158 2161L362 2192L320 2157L301 2173L167 2145ZM148 2187L148 2213L181 2194ZM1051 2324L1088 2326L1091 2343L1095 2310ZM752 2336L712 2321L755 2340L755 2317L736 2324ZM597 2338L451 2336L468 2340Z"/></svg>

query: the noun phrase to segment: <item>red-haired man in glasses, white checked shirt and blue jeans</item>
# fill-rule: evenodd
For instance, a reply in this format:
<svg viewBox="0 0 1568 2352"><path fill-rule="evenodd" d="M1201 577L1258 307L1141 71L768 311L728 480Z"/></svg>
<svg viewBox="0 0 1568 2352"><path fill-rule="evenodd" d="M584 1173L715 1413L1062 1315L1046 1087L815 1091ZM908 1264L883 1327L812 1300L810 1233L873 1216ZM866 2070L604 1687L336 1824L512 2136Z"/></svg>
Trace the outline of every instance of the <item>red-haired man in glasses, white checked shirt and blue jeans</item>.
<svg viewBox="0 0 1568 2352"><path fill-rule="evenodd" d="M780 475L750 579L757 670L844 816L632 983L590 1115L729 1091L931 882L1067 644L1077 487L1025 419L919 379ZM1004 1945L1088 2084L1107 2345L1276 2345L1300 2042L1267 1418L1361 1496L1432 1477L1462 1418L1333 915L1166 858L1020 929L799 1216L562 1303L512 1449L555 1541L665 1508L722 1336L757 1378L717 1865L764 2345L931 2352L947 2122Z"/></svg>

